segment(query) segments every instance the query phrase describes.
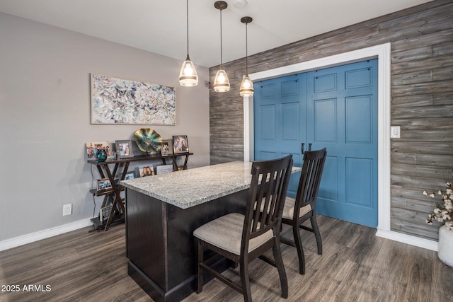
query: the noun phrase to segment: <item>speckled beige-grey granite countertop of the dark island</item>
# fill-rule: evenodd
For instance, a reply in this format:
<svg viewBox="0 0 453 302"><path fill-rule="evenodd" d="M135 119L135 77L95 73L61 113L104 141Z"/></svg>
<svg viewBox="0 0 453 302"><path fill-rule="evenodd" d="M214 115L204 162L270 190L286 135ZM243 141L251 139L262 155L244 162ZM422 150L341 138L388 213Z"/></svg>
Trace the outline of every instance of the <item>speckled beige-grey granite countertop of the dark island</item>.
<svg viewBox="0 0 453 302"><path fill-rule="evenodd" d="M122 180L121 185L188 209L241 190L251 182L251 162L234 161L161 175ZM293 167L292 173L301 170Z"/></svg>

